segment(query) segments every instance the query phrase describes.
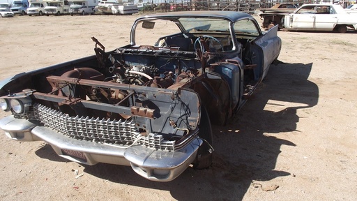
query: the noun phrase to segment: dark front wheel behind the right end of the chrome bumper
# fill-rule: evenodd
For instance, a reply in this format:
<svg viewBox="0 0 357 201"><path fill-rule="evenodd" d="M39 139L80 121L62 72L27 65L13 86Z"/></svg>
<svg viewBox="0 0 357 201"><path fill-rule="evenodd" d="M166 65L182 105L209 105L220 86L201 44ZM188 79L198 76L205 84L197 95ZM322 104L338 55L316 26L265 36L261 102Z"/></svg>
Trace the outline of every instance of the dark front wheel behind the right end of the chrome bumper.
<svg viewBox="0 0 357 201"><path fill-rule="evenodd" d="M211 121L208 117L208 112L205 107L202 107L201 111L201 121L199 122L199 138L204 139L203 144L199 147L197 151L197 156L195 162L193 163L193 168L204 169L209 168L212 165L212 142L213 133L211 127Z"/></svg>

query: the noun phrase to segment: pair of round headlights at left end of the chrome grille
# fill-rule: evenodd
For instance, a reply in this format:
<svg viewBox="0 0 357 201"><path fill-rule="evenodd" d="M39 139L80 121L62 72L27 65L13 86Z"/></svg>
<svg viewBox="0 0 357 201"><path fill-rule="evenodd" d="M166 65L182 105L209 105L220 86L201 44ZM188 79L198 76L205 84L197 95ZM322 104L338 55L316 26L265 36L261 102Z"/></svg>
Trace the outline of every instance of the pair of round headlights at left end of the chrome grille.
<svg viewBox="0 0 357 201"><path fill-rule="evenodd" d="M29 111L32 105L32 100L29 96L22 98L0 98L0 107L4 111L9 111L11 108L17 114L24 114Z"/></svg>

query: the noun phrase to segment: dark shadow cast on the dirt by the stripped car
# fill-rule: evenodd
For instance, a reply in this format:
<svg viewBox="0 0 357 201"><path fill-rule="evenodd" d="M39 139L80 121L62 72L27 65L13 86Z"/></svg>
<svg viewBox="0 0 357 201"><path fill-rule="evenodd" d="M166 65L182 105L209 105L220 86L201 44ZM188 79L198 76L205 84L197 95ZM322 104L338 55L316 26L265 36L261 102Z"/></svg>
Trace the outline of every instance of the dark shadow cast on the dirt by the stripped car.
<svg viewBox="0 0 357 201"><path fill-rule="evenodd" d="M227 126L213 126L215 152L210 169L188 168L174 181L165 183L148 181L130 167L119 165L85 166L84 172L120 184L169 191L176 200L242 200L252 181L290 175L275 170L275 163L282 144L295 144L268 134L296 131L296 111L317 105L319 89L307 80L311 69L312 64L271 66L255 96ZM281 110L265 110L267 106ZM43 151L48 150L38 149L36 154L61 161L59 156Z"/></svg>

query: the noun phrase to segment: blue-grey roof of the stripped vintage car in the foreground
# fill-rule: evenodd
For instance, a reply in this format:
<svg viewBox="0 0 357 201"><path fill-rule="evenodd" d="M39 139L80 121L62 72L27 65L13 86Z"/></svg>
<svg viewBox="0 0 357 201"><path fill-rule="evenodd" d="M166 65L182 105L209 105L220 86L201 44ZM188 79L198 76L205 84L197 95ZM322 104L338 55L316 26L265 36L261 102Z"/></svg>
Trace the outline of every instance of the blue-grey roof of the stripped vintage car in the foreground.
<svg viewBox="0 0 357 201"><path fill-rule="evenodd" d="M243 18L252 18L252 15L243 12L236 11L209 11L209 10L199 10L199 11L181 11L181 12L169 12L169 13L157 13L152 15L145 15L142 18L169 18L169 17L220 17L235 22L236 20Z"/></svg>

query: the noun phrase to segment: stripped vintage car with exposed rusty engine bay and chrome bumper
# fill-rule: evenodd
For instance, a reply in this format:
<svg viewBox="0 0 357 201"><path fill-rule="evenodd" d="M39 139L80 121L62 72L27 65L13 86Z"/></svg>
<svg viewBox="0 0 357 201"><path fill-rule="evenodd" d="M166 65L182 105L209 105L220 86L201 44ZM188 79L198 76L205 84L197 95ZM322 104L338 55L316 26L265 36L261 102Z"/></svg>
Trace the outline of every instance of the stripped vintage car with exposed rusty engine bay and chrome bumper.
<svg viewBox="0 0 357 201"><path fill-rule="evenodd" d="M3 80L0 105L11 115L0 128L70 161L171 181L210 167L211 123L225 125L266 76L280 53L277 33L238 12L139 17L129 45L105 51L93 37L91 57Z"/></svg>

